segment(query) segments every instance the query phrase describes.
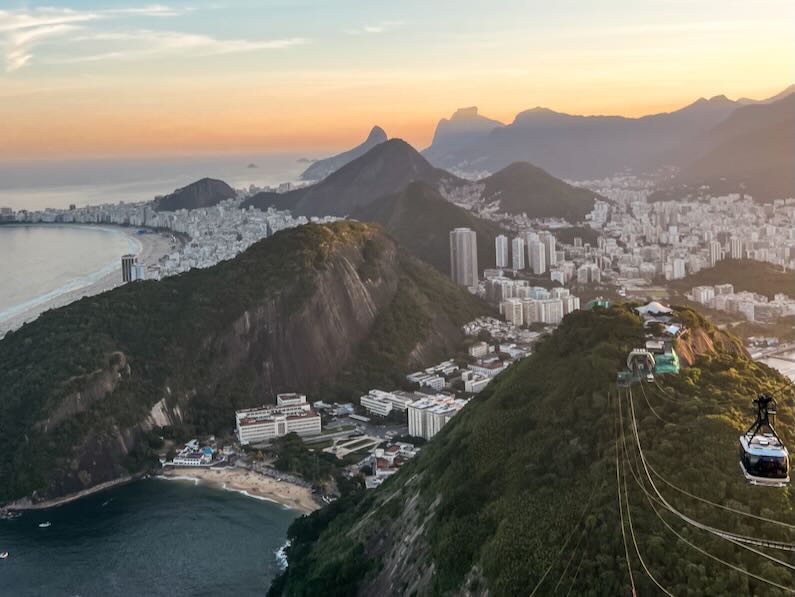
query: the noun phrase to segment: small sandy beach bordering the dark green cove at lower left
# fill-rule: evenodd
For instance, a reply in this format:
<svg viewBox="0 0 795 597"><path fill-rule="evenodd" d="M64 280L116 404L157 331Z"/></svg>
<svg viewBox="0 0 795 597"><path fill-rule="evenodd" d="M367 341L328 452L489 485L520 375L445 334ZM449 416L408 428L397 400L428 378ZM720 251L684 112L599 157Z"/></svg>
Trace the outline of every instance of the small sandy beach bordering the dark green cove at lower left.
<svg viewBox="0 0 795 597"><path fill-rule="evenodd" d="M167 467L163 469L162 476L169 479L195 479L197 482L245 492L251 497L271 500L298 512L313 512L320 507L307 487L277 481L239 467Z"/></svg>

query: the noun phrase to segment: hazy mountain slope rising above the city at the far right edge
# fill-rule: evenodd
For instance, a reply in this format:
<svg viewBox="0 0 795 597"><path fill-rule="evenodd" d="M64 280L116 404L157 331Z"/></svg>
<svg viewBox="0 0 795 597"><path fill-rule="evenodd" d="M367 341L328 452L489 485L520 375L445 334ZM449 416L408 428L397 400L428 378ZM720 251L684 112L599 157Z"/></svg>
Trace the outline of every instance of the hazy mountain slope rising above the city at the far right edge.
<svg viewBox="0 0 795 597"><path fill-rule="evenodd" d="M676 178L719 192L745 190L754 198L795 197L795 93L743 106L710 130L700 155Z"/></svg>

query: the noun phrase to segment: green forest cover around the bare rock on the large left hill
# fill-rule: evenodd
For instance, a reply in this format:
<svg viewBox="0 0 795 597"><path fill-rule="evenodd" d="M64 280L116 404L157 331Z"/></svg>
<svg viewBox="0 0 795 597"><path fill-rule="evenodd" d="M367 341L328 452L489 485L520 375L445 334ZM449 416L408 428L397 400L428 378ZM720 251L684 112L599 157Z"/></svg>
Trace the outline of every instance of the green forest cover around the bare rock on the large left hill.
<svg viewBox="0 0 795 597"><path fill-rule="evenodd" d="M90 474L95 468L105 479L146 468L153 451L140 424L160 401L181 408L175 433L227 430L235 409L261 403L290 374L287 363L265 387L263 363L275 348L241 335L241 318L278 308L273 317L288 321L313 296L330 260L357 250L363 280L397 275L401 284L355 359L340 361L349 368L333 387L396 378L424 339L442 350L440 338L453 342L459 326L486 309L407 256L390 261L396 272L381 271L392 242L372 226L340 222L281 232L215 267L49 311L0 342L0 502L80 489L83 480L99 482ZM310 372L302 379L308 387L284 389L311 391L338 372L322 379ZM136 446L129 458L122 434ZM61 483L78 475L77 486Z"/></svg>

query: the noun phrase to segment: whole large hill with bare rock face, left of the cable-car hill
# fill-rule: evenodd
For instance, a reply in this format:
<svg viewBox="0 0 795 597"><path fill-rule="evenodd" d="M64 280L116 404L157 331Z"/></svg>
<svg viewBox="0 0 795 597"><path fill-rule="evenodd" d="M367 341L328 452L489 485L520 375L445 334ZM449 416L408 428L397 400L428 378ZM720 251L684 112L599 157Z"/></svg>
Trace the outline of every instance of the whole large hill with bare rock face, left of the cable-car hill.
<svg viewBox="0 0 795 597"><path fill-rule="evenodd" d="M0 503L145 470L160 435L228 432L276 392L394 387L490 312L355 222L48 311L0 341Z"/></svg>

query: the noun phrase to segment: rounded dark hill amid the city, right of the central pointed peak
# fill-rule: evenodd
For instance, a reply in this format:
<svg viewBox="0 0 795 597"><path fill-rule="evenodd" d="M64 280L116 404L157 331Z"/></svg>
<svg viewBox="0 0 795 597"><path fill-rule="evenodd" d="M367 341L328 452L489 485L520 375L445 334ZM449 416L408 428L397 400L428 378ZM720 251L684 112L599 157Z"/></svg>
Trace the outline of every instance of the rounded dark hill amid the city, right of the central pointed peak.
<svg viewBox="0 0 795 597"><path fill-rule="evenodd" d="M511 164L478 184L483 185L483 201L499 201L503 211L526 213L531 218L565 218L579 222L593 209L594 199L602 198L527 162Z"/></svg>

